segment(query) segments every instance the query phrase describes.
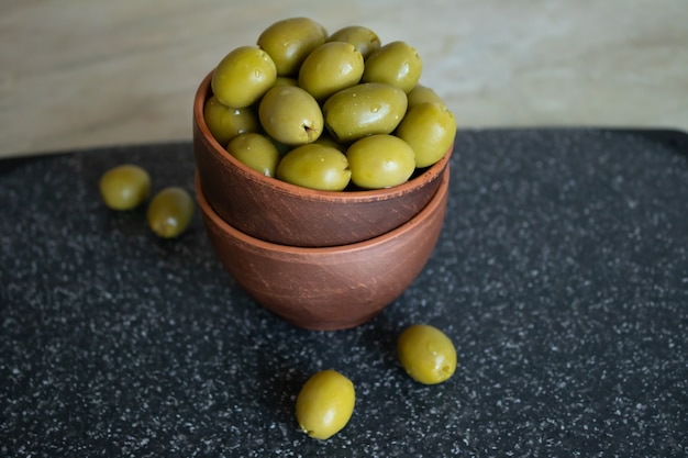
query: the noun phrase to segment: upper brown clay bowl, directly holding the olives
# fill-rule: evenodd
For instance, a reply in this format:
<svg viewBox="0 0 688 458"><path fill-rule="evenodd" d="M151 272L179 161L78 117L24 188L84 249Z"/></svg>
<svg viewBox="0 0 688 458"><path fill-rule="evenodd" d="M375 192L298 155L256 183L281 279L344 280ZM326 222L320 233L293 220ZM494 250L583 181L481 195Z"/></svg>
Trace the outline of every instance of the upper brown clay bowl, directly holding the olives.
<svg viewBox="0 0 688 458"><path fill-rule="evenodd" d="M265 177L231 156L208 130L203 105L211 77L193 101L196 167L208 202L235 228L281 245L346 245L399 227L435 194L452 148L408 182L381 190L318 191Z"/></svg>

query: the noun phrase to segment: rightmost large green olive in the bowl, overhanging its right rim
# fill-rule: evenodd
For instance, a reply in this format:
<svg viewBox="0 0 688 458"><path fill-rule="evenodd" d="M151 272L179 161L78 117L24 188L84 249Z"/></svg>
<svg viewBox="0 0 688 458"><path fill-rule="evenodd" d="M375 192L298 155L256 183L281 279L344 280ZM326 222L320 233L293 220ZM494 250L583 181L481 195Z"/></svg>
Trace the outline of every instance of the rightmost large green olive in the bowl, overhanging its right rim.
<svg viewBox="0 0 688 458"><path fill-rule="evenodd" d="M435 164L445 155L456 136L456 120L445 105L424 102L407 113L396 135L415 153L415 167Z"/></svg>

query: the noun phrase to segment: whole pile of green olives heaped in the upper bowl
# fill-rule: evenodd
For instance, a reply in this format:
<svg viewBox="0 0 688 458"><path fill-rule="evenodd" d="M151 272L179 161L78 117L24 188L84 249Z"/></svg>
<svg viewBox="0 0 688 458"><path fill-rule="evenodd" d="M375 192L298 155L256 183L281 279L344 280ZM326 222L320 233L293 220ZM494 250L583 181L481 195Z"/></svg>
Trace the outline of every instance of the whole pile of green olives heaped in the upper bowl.
<svg viewBox="0 0 688 458"><path fill-rule="evenodd" d="M422 69L403 41L288 18L219 62L204 120L229 154L267 177L328 191L390 188L454 142L454 115L420 82Z"/></svg>

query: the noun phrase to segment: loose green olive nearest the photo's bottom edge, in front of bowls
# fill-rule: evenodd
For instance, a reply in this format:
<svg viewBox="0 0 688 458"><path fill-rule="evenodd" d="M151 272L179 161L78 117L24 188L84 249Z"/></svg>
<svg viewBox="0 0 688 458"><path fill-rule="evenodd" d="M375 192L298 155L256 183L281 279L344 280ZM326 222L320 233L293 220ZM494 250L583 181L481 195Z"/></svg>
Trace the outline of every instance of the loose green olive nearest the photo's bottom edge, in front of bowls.
<svg viewBox="0 0 688 458"><path fill-rule="evenodd" d="M296 402L297 422L310 437L326 440L346 426L355 404L354 383L342 373L325 369L301 387Z"/></svg>

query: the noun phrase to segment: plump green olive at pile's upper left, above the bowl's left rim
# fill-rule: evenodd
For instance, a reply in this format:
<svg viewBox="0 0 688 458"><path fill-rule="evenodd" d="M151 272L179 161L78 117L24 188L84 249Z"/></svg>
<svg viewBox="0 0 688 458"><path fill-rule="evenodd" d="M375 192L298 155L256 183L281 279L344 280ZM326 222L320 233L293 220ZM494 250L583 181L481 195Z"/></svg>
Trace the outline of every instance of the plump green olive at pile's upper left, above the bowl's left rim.
<svg viewBox="0 0 688 458"><path fill-rule="evenodd" d="M232 108L255 103L275 85L277 70L268 54L256 46L232 49L215 67L211 86L220 102Z"/></svg>

